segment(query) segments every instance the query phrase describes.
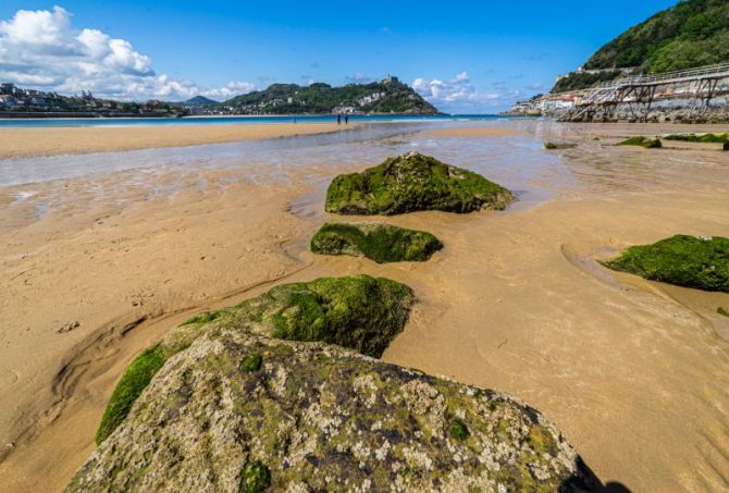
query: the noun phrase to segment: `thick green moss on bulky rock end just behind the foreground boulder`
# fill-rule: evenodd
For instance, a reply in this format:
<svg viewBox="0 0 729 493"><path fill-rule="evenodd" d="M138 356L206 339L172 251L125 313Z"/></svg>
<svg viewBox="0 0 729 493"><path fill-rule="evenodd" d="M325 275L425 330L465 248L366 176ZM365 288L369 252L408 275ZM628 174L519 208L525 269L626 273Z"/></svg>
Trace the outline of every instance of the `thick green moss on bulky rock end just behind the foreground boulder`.
<svg viewBox="0 0 729 493"><path fill-rule="evenodd" d="M337 344L379 358L403 330L413 300L404 284L353 275L276 286L238 307L261 317L264 326L270 321L273 337Z"/></svg>

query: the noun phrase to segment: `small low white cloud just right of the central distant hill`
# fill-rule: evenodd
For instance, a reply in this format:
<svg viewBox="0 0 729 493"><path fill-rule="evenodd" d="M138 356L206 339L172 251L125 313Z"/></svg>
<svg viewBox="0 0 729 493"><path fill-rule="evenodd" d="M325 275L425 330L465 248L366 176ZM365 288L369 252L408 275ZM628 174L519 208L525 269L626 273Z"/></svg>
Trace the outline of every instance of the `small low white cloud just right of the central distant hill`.
<svg viewBox="0 0 729 493"><path fill-rule="evenodd" d="M481 112L508 106L519 96L517 89L479 91L467 72L460 72L448 79L418 77L412 88L436 108L449 112Z"/></svg>

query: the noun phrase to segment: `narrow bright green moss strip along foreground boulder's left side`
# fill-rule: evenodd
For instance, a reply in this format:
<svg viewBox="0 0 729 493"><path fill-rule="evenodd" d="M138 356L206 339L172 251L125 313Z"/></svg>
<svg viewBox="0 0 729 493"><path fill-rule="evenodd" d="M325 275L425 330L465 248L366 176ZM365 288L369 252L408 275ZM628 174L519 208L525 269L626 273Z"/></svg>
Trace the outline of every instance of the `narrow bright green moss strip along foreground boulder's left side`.
<svg viewBox="0 0 729 493"><path fill-rule="evenodd" d="M96 443L100 444L124 421L132 405L145 387L162 368L166 357L159 345L145 349L128 366L111 394L109 404L103 411L101 423L96 432Z"/></svg>

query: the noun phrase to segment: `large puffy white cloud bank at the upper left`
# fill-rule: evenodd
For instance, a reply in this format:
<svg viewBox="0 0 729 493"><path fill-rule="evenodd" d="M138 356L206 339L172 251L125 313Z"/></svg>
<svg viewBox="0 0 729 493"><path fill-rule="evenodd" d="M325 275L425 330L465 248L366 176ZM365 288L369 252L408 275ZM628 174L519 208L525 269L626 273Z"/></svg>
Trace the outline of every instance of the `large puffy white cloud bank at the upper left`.
<svg viewBox="0 0 729 493"><path fill-rule="evenodd" d="M24 87L73 94L90 90L119 99L217 99L250 93L251 83L232 81L224 87L202 88L190 81L157 74L151 59L125 39L98 29L76 29L71 13L20 10L0 21L0 81Z"/></svg>

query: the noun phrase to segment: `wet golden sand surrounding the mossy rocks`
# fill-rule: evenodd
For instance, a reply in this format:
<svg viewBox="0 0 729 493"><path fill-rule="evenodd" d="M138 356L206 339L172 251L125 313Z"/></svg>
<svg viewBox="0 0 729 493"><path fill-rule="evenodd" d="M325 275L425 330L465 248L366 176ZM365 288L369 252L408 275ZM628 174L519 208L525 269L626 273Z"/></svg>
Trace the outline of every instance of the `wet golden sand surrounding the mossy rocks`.
<svg viewBox="0 0 729 493"><path fill-rule="evenodd" d="M613 146L662 133L655 125L494 126L528 137L517 148L496 140L504 136L482 137L504 149L504 174L492 177L508 182L510 160L539 152L548 167L523 183L548 188L549 198L504 213L387 218L444 241L425 263L307 251L328 219L323 185L373 164L367 160L328 165L323 156L275 175L171 169L141 183L127 171L5 198L0 402L12 405L0 407L0 437L14 445L0 452L4 484L61 490L94 449L125 366L190 313L279 282L364 272L405 282L419 298L386 361L518 396L553 418L604 482L638 492L726 489L729 318L716 307L729 306L729 295L646 282L597 262L676 233L729 236L726 153ZM466 138L405 140L438 157L441 144L473 141ZM540 149L557 138L579 146ZM170 182L175 193L150 192ZM50 199L64 190L74 200ZM40 204L51 210L39 219Z"/></svg>

